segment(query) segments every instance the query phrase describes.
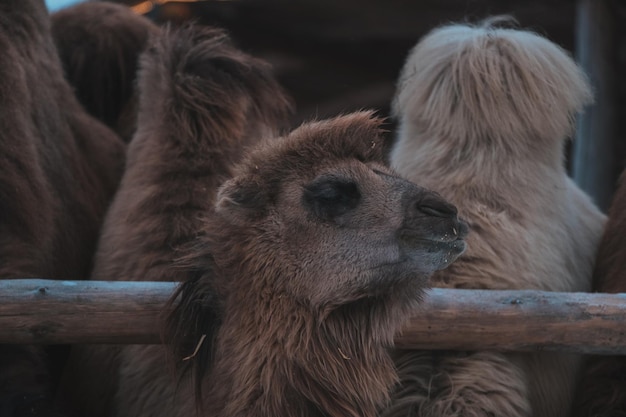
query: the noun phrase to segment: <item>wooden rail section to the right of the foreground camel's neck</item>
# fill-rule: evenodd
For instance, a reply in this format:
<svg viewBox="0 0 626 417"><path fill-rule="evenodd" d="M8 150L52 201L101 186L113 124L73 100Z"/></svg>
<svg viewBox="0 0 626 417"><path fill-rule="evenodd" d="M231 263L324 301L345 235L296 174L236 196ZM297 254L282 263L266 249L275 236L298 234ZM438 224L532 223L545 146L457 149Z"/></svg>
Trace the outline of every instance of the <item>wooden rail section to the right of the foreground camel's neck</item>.
<svg viewBox="0 0 626 417"><path fill-rule="evenodd" d="M433 289L397 346L626 354L626 294Z"/></svg>

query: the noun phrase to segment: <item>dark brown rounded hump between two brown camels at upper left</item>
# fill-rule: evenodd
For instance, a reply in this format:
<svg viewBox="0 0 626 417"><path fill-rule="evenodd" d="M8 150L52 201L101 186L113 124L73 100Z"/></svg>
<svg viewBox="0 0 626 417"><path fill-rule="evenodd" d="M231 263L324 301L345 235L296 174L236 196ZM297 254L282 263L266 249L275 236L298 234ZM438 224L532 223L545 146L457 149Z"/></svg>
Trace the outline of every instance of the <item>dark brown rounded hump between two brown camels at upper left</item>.
<svg viewBox="0 0 626 417"><path fill-rule="evenodd" d="M129 7L90 1L52 14L65 76L85 109L129 141L136 128L139 55L158 26Z"/></svg>

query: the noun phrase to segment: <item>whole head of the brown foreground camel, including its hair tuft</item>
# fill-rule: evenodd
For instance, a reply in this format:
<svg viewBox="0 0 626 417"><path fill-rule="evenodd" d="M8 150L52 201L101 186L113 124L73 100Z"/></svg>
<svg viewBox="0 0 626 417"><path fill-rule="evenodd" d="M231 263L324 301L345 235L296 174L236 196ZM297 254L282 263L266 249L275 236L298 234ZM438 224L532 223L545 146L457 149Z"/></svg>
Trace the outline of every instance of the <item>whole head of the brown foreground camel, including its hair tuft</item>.
<svg viewBox="0 0 626 417"><path fill-rule="evenodd" d="M310 123L249 156L216 204L227 239L247 242L245 256L231 252L247 263L238 276L260 272L265 290L333 308L416 297L464 251L456 208L386 165L380 122L362 112Z"/></svg>

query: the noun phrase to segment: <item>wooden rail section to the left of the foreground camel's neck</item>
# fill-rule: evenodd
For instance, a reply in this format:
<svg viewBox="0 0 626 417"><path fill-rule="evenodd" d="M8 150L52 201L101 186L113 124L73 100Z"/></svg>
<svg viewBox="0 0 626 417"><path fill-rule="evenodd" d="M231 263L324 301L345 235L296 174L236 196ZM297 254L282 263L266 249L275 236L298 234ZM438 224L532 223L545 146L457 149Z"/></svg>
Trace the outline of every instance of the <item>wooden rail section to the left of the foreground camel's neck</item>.
<svg viewBox="0 0 626 417"><path fill-rule="evenodd" d="M160 343L175 283L0 281L0 343Z"/></svg>

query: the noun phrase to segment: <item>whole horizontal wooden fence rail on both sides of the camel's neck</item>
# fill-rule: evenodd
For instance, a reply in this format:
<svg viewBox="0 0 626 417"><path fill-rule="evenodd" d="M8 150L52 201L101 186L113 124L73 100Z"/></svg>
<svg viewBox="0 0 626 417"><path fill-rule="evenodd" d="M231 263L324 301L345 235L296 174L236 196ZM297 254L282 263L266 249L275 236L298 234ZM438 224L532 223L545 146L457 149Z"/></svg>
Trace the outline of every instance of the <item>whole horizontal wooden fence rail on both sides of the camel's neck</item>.
<svg viewBox="0 0 626 417"><path fill-rule="evenodd" d="M0 281L0 343L161 343L175 286ZM626 354L626 294L432 289L396 345Z"/></svg>

